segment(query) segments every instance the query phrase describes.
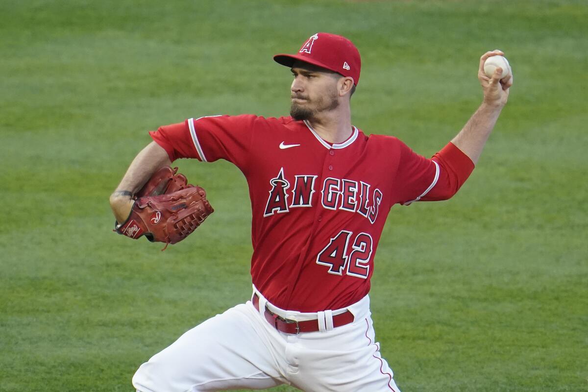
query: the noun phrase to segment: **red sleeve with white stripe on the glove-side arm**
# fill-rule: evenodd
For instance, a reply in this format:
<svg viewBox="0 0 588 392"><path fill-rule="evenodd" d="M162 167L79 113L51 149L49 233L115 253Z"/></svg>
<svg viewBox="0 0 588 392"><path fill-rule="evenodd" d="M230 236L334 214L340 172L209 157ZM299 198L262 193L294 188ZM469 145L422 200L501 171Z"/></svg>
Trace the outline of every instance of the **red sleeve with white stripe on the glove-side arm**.
<svg viewBox="0 0 588 392"><path fill-rule="evenodd" d="M166 150L172 162L179 158L196 158L202 162L225 159L243 168L248 162L256 118L253 115L191 118L162 126L149 135Z"/></svg>

